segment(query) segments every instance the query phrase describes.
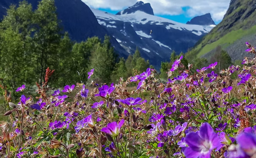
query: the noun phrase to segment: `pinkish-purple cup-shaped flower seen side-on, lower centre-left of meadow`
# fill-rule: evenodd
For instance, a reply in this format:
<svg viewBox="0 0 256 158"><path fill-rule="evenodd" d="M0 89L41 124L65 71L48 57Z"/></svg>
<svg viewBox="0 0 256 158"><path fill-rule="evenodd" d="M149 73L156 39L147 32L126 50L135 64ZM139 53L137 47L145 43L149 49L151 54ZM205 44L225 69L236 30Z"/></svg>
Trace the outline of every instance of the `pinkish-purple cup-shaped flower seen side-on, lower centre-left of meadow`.
<svg viewBox="0 0 256 158"><path fill-rule="evenodd" d="M121 120L118 124L116 122L108 123L107 127L102 128L101 131L110 134L112 137L118 137L121 126L124 124L124 120Z"/></svg>

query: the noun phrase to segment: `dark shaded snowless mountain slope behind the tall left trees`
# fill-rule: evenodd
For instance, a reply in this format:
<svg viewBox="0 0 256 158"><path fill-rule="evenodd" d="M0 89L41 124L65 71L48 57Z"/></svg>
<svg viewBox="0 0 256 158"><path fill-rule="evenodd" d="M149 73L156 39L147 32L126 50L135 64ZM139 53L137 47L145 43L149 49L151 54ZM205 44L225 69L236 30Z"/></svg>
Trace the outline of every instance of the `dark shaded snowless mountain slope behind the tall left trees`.
<svg viewBox="0 0 256 158"><path fill-rule="evenodd" d="M21 0L0 0L0 21L6 15L6 11L11 4L19 5ZM33 9L41 0L26 0ZM101 26L90 8L81 0L55 0L57 8L58 20L61 21L63 32L68 32L69 37L77 42L85 41L88 37L99 37L104 40L104 36L110 36L110 42L115 47L115 51L119 56L127 57L128 53L122 48L114 37L112 37L107 29Z"/></svg>

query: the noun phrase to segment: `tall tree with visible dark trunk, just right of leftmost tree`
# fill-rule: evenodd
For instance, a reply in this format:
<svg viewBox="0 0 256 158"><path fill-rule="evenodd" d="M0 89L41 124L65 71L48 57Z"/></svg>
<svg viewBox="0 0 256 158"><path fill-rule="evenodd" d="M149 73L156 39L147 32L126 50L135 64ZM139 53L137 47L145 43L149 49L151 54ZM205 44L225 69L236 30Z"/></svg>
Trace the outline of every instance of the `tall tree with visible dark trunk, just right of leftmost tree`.
<svg viewBox="0 0 256 158"><path fill-rule="evenodd" d="M54 0L42 0L34 13L33 25L35 32L33 42L36 52L36 62L39 65L35 73L38 80L44 82L45 70L58 69L58 47L61 43L61 27L57 19Z"/></svg>

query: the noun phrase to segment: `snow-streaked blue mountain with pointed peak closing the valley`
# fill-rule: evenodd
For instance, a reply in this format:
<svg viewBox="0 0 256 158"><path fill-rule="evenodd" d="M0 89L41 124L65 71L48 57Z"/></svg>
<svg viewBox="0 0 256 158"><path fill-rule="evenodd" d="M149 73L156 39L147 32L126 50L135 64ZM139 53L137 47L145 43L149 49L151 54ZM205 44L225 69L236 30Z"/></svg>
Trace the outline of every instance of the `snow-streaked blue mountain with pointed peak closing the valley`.
<svg viewBox="0 0 256 158"><path fill-rule="evenodd" d="M91 8L99 24L116 38L118 43L130 54L136 47L141 55L149 59L150 64L160 67L162 61L169 61L172 51L187 52L195 43L213 27L182 24L170 19L154 16L140 10L145 5L138 2L118 15ZM138 8L139 10L135 10ZM152 30L152 33L150 34Z"/></svg>

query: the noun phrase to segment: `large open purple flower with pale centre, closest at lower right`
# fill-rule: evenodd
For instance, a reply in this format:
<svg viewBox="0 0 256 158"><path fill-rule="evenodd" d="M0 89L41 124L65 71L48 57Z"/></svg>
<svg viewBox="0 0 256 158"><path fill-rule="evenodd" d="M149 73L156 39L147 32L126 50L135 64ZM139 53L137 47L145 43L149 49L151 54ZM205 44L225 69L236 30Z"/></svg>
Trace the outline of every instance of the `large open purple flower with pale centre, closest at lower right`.
<svg viewBox="0 0 256 158"><path fill-rule="evenodd" d="M186 135L185 142L189 147L184 151L186 158L210 158L213 149L221 147L221 139L209 123L203 123L198 133Z"/></svg>

